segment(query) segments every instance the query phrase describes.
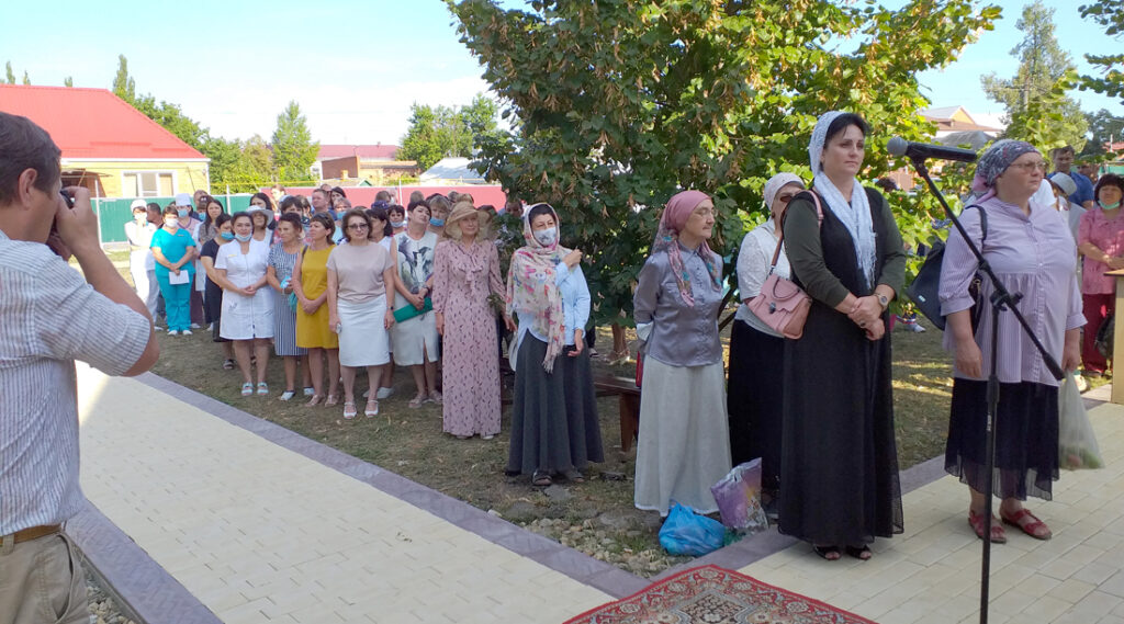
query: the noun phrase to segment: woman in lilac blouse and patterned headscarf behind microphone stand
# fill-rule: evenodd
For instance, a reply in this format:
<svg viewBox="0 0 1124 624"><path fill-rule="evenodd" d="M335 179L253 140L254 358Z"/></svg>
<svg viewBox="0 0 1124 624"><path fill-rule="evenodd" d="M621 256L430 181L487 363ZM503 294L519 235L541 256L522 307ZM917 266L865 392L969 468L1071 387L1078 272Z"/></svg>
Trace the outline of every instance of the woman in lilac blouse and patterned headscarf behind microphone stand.
<svg viewBox="0 0 1124 624"><path fill-rule="evenodd" d="M1037 149L1005 139L980 157L972 189L984 192L977 203L987 212L985 258L1010 292L1022 293L1018 310L1046 351L1061 360L1062 368L1075 370L1081 361L1079 333L1085 324L1077 286L1077 249L1058 211L1032 209L1030 199L1044 172L1045 162ZM979 214L979 210L967 210L960 219L978 247L982 238ZM1049 501L1052 481L1058 479L1058 382L1015 318L1001 312L995 470L985 474L986 379L996 328L990 310L985 310L979 327L972 328L968 284L975 272L976 258L953 230L941 267L941 311L949 322L944 347L955 357L945 470L971 488L968 522L980 539L990 524L991 541L1007 541L999 520L984 517L982 490L990 478L995 494L1003 499L1003 522L1032 538L1049 540L1050 529L1023 507L1023 501L1028 495ZM980 301L987 302L992 290L985 278Z"/></svg>

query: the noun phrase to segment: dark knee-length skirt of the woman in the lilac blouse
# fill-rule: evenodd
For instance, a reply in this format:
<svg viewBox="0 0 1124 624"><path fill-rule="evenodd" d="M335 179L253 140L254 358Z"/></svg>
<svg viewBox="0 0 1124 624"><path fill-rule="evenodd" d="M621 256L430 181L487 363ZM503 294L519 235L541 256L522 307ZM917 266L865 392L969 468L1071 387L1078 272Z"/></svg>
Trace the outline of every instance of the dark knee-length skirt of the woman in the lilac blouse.
<svg viewBox="0 0 1124 624"><path fill-rule="evenodd" d="M954 379L944 469L976 492L987 487L987 382ZM999 384L992 492L1000 498L1050 501L1058 480L1058 388Z"/></svg>

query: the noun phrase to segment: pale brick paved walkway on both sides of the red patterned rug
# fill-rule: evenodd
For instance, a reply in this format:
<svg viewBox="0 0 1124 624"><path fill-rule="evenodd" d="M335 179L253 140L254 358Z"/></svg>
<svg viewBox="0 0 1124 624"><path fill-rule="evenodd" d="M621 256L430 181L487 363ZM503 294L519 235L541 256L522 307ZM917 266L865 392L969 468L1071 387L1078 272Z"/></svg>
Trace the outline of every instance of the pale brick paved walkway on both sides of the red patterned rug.
<svg viewBox="0 0 1124 624"><path fill-rule="evenodd" d="M158 377L80 366L79 388L92 506L67 531L152 624L558 624L647 584ZM1090 414L1108 466L1032 504L1052 541L992 549L994 623L1124 624L1124 407ZM697 563L882 624L975 622L979 541L964 487L940 475L904 476L907 532L872 561L770 532Z"/></svg>

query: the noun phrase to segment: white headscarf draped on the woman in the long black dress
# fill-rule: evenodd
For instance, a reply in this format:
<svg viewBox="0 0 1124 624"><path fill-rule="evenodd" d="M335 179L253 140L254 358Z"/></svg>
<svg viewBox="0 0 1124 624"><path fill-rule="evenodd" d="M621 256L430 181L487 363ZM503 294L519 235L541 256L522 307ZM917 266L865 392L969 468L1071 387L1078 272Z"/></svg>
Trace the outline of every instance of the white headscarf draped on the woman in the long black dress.
<svg viewBox="0 0 1124 624"><path fill-rule="evenodd" d="M827 177L823 171L822 158L824 147L827 144L827 128L836 117L844 114L843 111L833 110L819 116L816 128L812 131L812 141L808 143L808 156L812 160L812 173L815 180L813 189L819 192L832 213L843 223L851 240L854 242L854 251L867 285L870 286L874 279L874 260L878 247L874 242L874 224L870 218L870 201L867 199L867 190L858 180L851 185L851 199L847 201L843 193Z"/></svg>

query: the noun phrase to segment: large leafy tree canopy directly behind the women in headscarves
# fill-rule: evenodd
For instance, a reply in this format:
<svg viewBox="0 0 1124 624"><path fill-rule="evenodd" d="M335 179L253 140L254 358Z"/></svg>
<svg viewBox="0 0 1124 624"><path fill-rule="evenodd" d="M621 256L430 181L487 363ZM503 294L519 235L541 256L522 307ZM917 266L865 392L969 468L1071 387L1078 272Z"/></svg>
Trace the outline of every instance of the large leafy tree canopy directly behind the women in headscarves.
<svg viewBox="0 0 1124 624"><path fill-rule="evenodd" d="M659 208L681 189L714 195L711 246L732 258L763 220L765 180L810 177L818 114L853 110L874 128L864 178L900 166L889 137L933 131L916 73L954 61L999 15L970 0L446 3L513 126L481 137L479 168L559 209L563 239L591 255L600 323L631 312ZM932 200L896 199L909 242L927 238Z"/></svg>

